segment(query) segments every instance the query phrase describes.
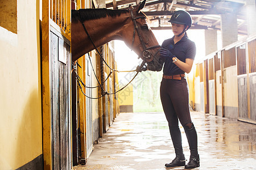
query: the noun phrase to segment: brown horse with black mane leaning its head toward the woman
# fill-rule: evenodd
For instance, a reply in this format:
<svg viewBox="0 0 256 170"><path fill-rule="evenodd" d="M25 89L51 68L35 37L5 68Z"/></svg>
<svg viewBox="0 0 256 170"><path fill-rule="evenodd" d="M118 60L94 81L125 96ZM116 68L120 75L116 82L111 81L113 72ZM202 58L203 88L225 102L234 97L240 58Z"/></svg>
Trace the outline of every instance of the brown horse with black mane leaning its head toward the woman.
<svg viewBox="0 0 256 170"><path fill-rule="evenodd" d="M72 61L95 49L94 45L98 47L112 40L122 40L147 62L148 70L162 70L160 46L147 25L146 15L141 12L145 3L146 0L136 8L129 6L128 10L72 10Z"/></svg>

